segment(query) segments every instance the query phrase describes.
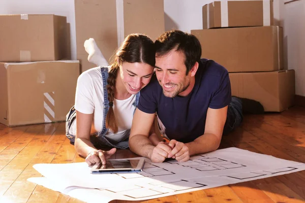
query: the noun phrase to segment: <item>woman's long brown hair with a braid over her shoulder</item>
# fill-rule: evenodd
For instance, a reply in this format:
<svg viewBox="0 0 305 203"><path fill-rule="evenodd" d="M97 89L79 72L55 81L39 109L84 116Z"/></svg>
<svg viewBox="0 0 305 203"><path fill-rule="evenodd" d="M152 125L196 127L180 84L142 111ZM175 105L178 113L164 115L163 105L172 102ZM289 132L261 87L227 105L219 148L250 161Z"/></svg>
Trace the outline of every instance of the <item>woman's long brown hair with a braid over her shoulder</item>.
<svg viewBox="0 0 305 203"><path fill-rule="evenodd" d="M106 86L110 107L106 117L106 128L111 129L113 133L117 133L118 130L113 112L113 99L116 74L119 69L119 65L123 62L142 62L155 67L155 56L156 49L154 42L151 41L151 39L147 36L141 34L131 34L127 36L117 50L109 69L109 77L107 80L108 85Z"/></svg>

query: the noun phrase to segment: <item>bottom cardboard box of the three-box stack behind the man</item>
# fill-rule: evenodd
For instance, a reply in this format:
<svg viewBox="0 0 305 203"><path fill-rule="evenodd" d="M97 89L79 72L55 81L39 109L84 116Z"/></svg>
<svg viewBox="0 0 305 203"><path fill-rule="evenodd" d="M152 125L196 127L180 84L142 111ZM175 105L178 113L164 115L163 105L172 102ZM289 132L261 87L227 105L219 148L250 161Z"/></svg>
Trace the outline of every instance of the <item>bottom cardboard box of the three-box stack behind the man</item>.
<svg viewBox="0 0 305 203"><path fill-rule="evenodd" d="M294 70L229 73L232 96L259 101L266 112L281 112L294 104Z"/></svg>

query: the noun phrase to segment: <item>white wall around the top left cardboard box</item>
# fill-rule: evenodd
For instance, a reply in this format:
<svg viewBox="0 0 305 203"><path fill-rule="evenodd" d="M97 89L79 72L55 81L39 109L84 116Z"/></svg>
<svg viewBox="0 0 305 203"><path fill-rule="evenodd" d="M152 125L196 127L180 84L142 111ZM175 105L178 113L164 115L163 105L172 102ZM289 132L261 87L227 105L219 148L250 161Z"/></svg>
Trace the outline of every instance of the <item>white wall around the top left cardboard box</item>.
<svg viewBox="0 0 305 203"><path fill-rule="evenodd" d="M9 14L55 14L66 16L67 22L70 23L71 57L73 60L76 59L74 0L0 0L0 15Z"/></svg>

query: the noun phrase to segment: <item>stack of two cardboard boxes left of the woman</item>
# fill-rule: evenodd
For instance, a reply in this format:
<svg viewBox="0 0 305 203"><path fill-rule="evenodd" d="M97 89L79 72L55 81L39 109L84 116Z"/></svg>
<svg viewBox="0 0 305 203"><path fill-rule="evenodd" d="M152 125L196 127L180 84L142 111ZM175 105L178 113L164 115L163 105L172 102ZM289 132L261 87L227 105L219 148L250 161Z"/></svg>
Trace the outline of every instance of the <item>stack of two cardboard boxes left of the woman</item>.
<svg viewBox="0 0 305 203"><path fill-rule="evenodd" d="M64 60L66 17L3 15L0 27L0 123L65 121L79 76L79 61Z"/></svg>

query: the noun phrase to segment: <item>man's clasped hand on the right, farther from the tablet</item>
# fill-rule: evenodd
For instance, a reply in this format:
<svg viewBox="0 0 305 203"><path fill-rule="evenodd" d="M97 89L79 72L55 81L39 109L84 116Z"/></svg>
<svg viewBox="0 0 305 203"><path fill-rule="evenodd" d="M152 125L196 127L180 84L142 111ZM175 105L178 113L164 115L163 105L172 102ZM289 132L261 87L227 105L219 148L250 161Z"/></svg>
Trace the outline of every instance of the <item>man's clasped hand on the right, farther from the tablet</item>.
<svg viewBox="0 0 305 203"><path fill-rule="evenodd" d="M172 150L169 152L167 158L175 158L179 162L187 161L190 159L190 150L186 144L176 140L171 140L168 143L168 146L172 148Z"/></svg>

